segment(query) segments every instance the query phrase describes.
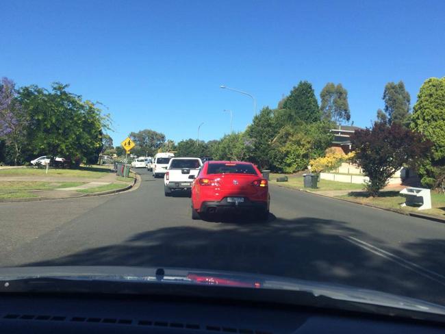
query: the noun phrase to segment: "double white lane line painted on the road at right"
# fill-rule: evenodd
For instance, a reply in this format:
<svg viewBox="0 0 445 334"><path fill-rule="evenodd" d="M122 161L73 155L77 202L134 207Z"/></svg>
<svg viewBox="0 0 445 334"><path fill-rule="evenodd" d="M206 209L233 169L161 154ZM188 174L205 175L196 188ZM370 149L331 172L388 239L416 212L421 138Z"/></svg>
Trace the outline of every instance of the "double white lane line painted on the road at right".
<svg viewBox="0 0 445 334"><path fill-rule="evenodd" d="M355 244L355 246L364 248L364 249L366 249L366 251L370 251L371 253L373 253L375 255L378 255L380 257L383 257L385 259L393 261L394 263L398 264L399 266L402 266L403 268L407 268L408 270L411 270L412 272L416 272L416 274L420 274L421 276L426 277L427 279L431 279L432 281L435 281L436 283L439 283L440 285L445 286L445 276L443 276L442 274L439 274L438 272L434 272L432 270L429 270L427 268L419 266L418 264L414 264L414 262L407 261L407 260L405 260L401 257L398 257L395 254L387 252L377 246L368 244L368 242L359 240L356 237L349 237L349 236L348 237L340 236L340 237L348 242L351 242L351 244Z"/></svg>

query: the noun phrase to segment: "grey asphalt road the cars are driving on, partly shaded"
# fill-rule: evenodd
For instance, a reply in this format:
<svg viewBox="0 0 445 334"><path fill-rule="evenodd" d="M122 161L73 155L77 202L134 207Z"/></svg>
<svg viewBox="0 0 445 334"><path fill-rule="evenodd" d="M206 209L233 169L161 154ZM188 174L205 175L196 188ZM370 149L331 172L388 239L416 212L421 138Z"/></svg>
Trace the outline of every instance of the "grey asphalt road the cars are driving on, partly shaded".
<svg viewBox="0 0 445 334"><path fill-rule="evenodd" d="M270 187L268 222L191 219L190 198L138 190L0 204L0 266L156 266L341 283L445 305L445 224Z"/></svg>

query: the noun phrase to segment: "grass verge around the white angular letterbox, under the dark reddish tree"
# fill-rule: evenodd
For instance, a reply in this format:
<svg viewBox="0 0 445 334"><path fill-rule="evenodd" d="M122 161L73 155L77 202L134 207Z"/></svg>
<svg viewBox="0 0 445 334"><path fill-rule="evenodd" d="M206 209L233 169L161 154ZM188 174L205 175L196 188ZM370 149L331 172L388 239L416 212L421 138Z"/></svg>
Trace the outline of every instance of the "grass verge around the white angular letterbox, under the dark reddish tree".
<svg viewBox="0 0 445 334"><path fill-rule="evenodd" d="M346 198L357 203L375 205L387 209L398 209L402 211L418 211L424 214L434 214L445 217L445 194L431 192L432 209L419 211L417 207L401 207L405 203L405 197L400 196L398 192L381 192L379 197L367 196L365 192L350 192L349 194L338 196Z"/></svg>

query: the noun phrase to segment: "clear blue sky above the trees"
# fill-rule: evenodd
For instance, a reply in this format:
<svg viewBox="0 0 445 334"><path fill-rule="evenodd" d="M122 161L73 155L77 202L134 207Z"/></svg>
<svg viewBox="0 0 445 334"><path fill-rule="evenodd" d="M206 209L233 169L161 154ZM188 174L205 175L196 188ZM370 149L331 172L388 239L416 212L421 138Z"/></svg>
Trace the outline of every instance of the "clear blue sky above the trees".
<svg viewBox="0 0 445 334"><path fill-rule="evenodd" d="M114 144L153 129L179 141L241 131L300 80L319 99L348 90L352 120L369 126L388 81L411 101L445 75L445 1L2 1L0 76L18 86L71 84L101 101Z"/></svg>

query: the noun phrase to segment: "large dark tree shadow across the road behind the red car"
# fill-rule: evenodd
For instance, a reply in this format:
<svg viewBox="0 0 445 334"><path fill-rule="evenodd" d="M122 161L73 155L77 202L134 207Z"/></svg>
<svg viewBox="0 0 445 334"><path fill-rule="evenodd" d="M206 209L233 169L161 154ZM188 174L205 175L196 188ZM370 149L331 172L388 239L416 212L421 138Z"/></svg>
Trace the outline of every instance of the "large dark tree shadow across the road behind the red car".
<svg viewBox="0 0 445 334"><path fill-rule="evenodd" d="M347 242L361 233L335 220L281 218L266 223L194 221L138 233L120 244L90 248L26 266L140 266L231 270L341 283L445 305L444 287ZM369 240L369 239L368 239ZM442 263L444 242L411 245L419 258Z"/></svg>

